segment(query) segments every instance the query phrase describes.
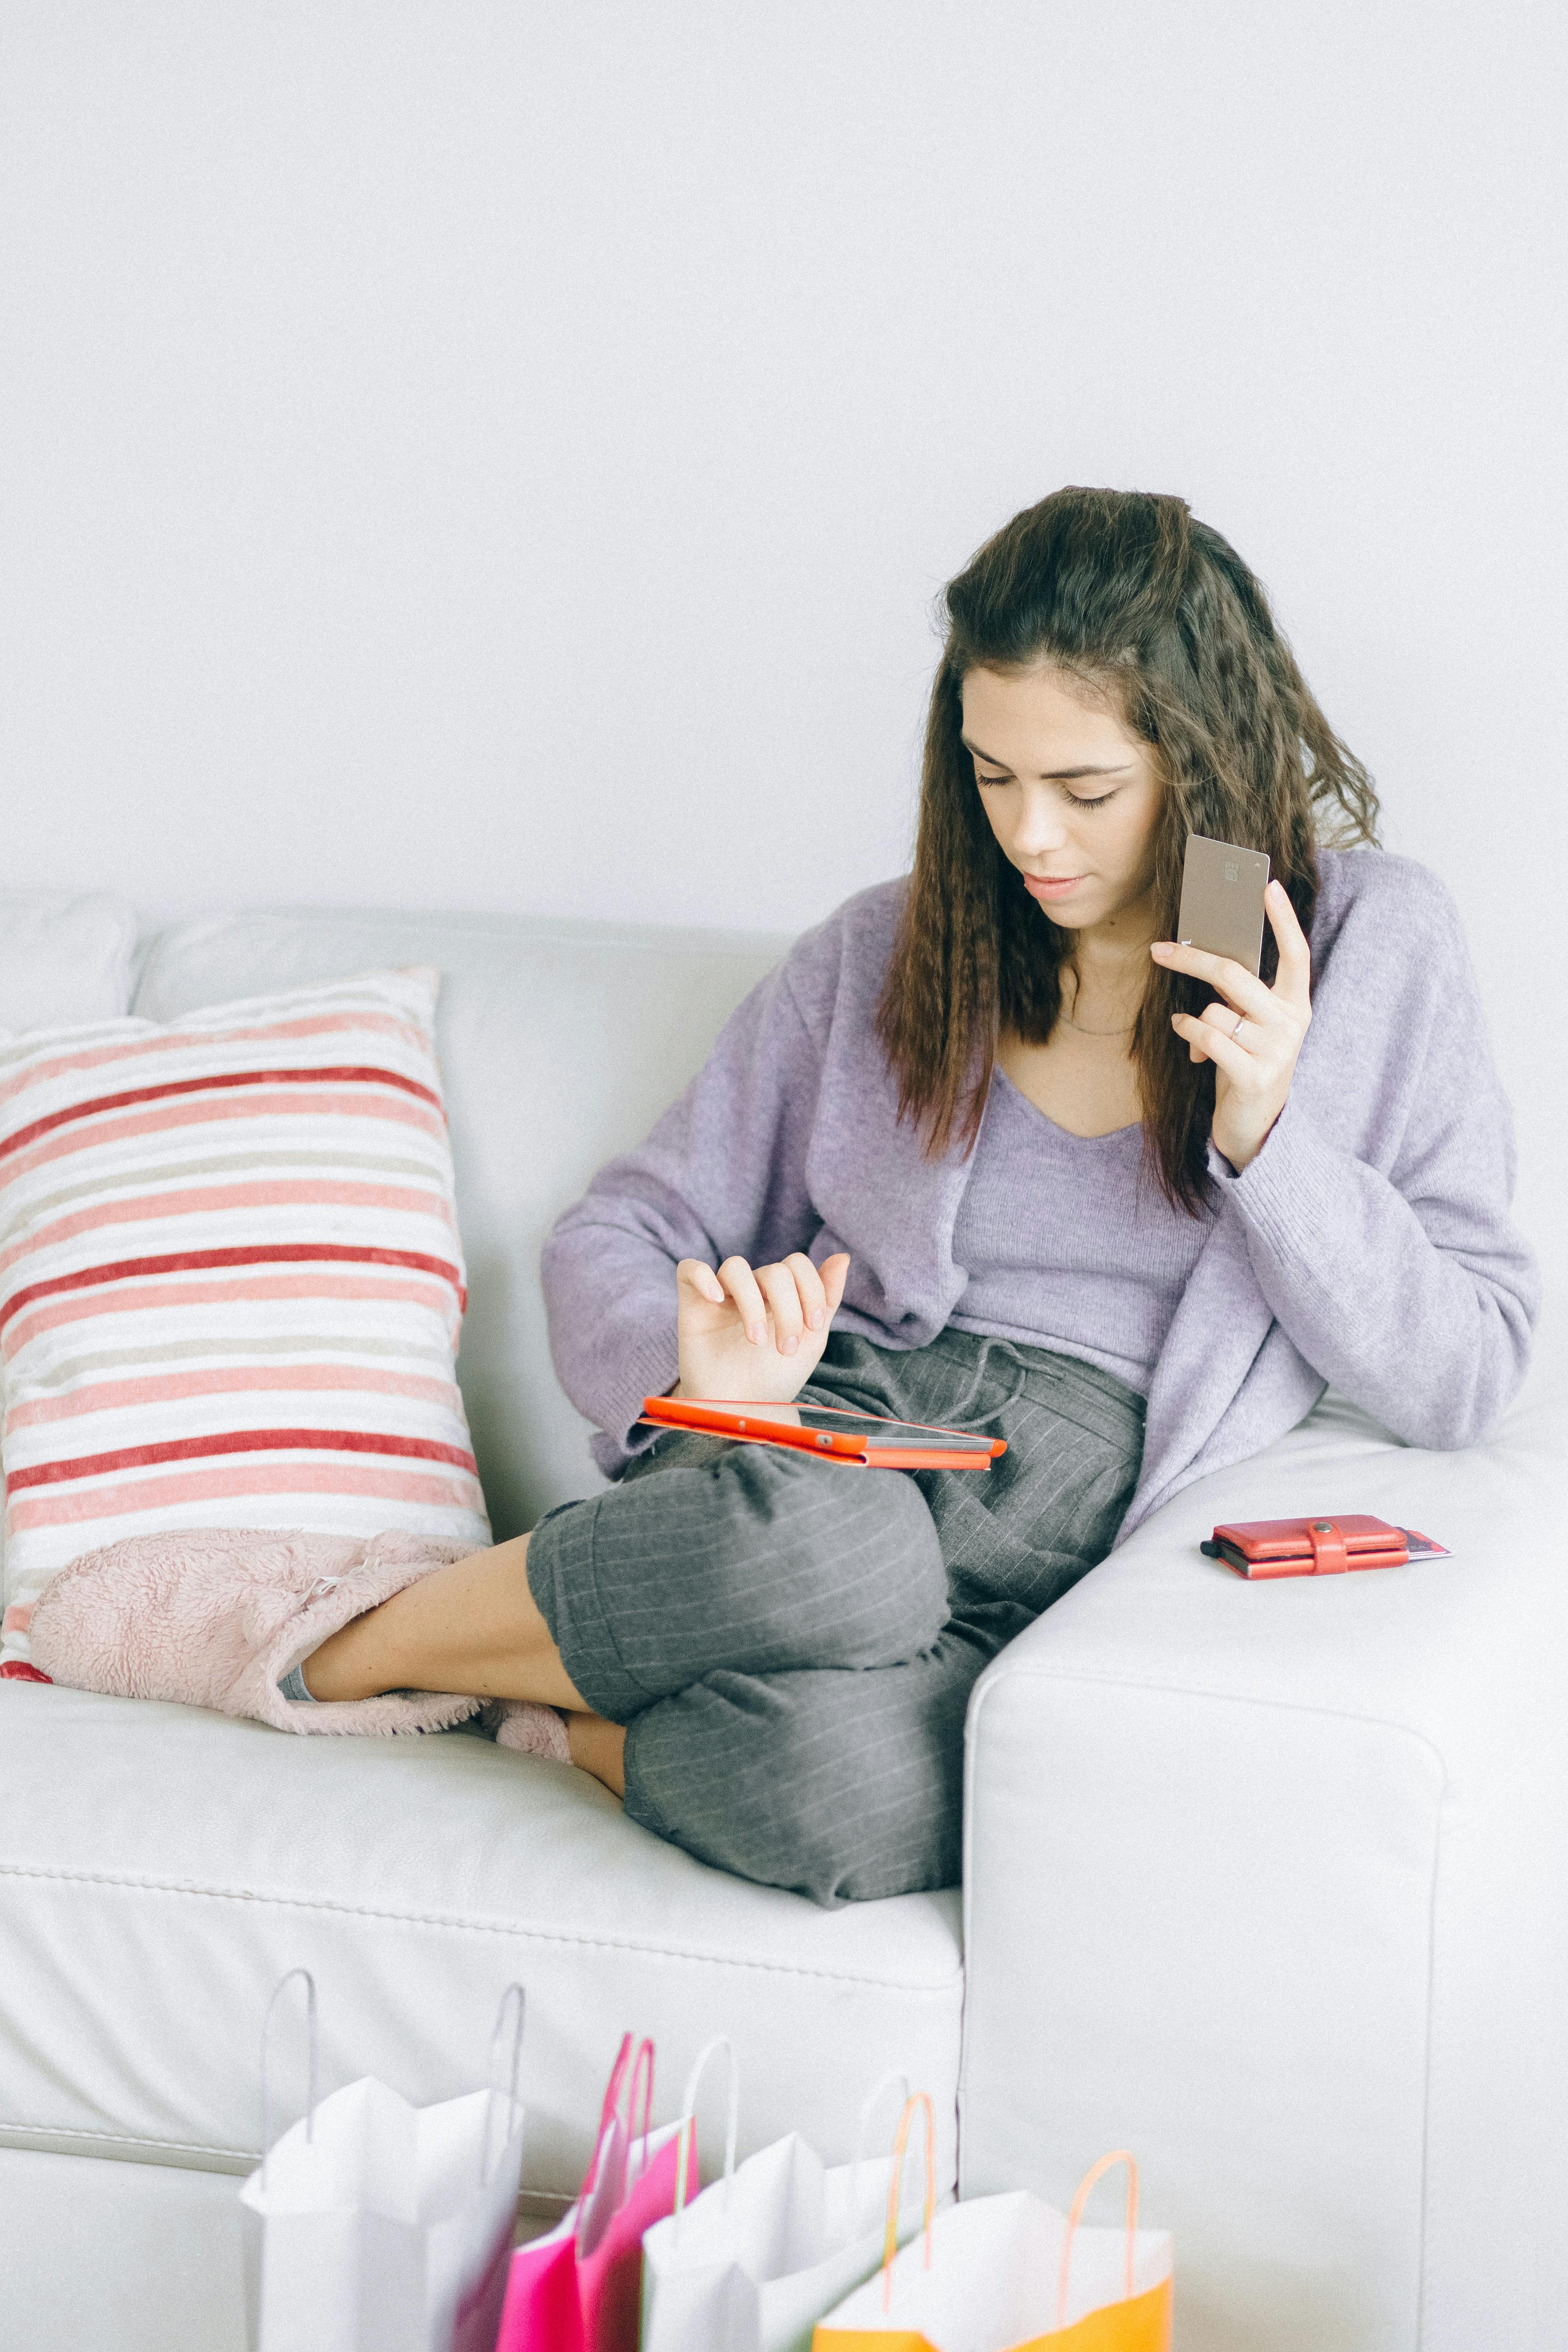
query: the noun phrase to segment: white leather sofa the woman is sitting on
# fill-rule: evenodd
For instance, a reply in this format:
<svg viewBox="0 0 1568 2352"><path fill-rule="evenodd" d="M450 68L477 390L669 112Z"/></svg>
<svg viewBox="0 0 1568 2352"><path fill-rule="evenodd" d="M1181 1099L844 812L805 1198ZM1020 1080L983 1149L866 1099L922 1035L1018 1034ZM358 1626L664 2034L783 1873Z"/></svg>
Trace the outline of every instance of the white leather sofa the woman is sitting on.
<svg viewBox="0 0 1568 2352"><path fill-rule="evenodd" d="M538 1244L783 946L273 913L136 953L160 1018L447 974L461 1376L498 1536L599 1484ZM416 2100L473 2086L520 1978L538 2199L581 2176L623 2027L658 2042L658 2114L722 2030L743 2150L799 2126L844 2159L889 2067L933 2093L964 2194L1063 2201L1138 2150L1180 2352L1568 2345L1566 1404L1549 1308L1486 1446L1418 1454L1331 1395L1147 1522L980 1682L961 1893L823 1912L465 1733L289 1740L0 1684L0 2345L242 2345L256 2037L296 1964L324 2084ZM1246 1585L1197 1550L1305 1510L1413 1522L1455 1559Z"/></svg>

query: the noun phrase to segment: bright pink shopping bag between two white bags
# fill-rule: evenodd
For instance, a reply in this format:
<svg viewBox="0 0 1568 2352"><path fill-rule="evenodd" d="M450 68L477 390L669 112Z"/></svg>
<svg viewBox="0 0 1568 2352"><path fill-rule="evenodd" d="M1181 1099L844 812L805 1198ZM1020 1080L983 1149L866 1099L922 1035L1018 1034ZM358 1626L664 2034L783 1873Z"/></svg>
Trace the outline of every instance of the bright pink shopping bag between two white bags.
<svg viewBox="0 0 1568 2352"><path fill-rule="evenodd" d="M675 2211L679 2147L693 2131L691 2117L649 2131L651 2107L654 2044L632 2056L625 2034L578 2201L548 2237L512 2253L496 2352L637 2352L642 2232Z"/></svg>

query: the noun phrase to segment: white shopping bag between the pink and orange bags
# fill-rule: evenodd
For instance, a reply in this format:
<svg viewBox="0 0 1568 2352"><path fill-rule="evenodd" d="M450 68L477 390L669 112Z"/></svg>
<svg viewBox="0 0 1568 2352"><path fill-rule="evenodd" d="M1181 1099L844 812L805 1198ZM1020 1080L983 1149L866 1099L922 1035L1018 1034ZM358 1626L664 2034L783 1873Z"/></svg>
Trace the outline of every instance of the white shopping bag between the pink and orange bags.
<svg viewBox="0 0 1568 2352"><path fill-rule="evenodd" d="M907 2100L907 2079L884 2077L860 2110L860 2145L891 2084ZM642 2239L642 2352L806 2352L813 2321L882 2263L891 2161L827 2166L790 2131L736 2169L733 2058L729 2100L724 2180ZM696 2070L686 2114L693 2103ZM900 2209L898 2237L919 2223L919 2201Z"/></svg>

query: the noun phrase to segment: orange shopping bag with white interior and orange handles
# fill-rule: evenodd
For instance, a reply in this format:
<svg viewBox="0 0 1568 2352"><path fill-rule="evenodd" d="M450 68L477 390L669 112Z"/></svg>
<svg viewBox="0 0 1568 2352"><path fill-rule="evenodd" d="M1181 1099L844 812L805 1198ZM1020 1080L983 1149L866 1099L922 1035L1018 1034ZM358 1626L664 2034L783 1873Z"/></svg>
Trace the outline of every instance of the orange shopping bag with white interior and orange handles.
<svg viewBox="0 0 1568 2352"><path fill-rule="evenodd" d="M919 2091L893 2147L891 2213L917 2107L926 2110L926 2230L903 2253L889 2230L882 2274L811 2338L811 2352L1168 2352L1171 2232L1138 2227L1138 2166L1126 2150L1084 2173L1070 2213L1013 2190L933 2213L936 2126ZM1126 2164L1126 2225L1084 2230L1095 2180Z"/></svg>

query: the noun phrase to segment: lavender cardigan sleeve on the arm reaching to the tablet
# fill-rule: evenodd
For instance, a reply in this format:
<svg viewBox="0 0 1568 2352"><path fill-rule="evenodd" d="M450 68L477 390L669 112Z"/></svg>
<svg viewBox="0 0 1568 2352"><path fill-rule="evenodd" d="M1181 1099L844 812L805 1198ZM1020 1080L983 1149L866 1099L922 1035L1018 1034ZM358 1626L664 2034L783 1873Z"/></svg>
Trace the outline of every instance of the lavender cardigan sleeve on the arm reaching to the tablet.
<svg viewBox="0 0 1568 2352"><path fill-rule="evenodd" d="M679 1258L719 1265L738 1251L771 1265L820 1225L806 1192L820 1049L792 988L797 955L799 941L743 997L679 1101L597 1171L543 1244L550 1357L599 1432L590 1451L607 1477L658 1435L632 1423L677 1378Z"/></svg>

